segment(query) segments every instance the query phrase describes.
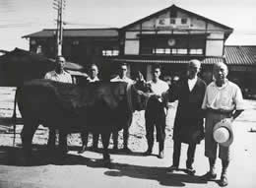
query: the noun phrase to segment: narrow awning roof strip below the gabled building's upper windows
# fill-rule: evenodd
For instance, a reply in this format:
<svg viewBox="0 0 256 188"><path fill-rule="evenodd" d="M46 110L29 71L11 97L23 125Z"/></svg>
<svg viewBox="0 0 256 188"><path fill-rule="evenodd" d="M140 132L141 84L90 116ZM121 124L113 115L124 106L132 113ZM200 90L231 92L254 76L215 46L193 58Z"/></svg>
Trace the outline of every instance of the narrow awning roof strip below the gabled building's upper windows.
<svg viewBox="0 0 256 188"><path fill-rule="evenodd" d="M186 64L189 60L170 60L170 59L124 59L124 58L115 58L110 61L114 62L125 62L125 63L157 63L157 64L169 64L169 63L179 63ZM208 57L202 60L202 64L214 64L217 62L223 61L221 57Z"/></svg>

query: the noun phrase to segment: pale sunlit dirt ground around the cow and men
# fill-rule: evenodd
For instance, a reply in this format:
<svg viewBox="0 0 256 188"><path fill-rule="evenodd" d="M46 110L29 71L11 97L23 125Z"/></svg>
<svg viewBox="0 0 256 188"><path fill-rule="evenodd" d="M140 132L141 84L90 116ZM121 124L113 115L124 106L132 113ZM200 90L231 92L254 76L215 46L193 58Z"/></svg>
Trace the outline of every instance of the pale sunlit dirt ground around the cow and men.
<svg viewBox="0 0 256 188"><path fill-rule="evenodd" d="M0 90L0 114L12 114L12 90ZM246 100L250 107L235 121L235 138L232 144L233 158L228 170L229 185L227 187L256 187L256 101ZM195 176L183 171L166 173L166 167L171 164L172 141L171 126L175 107L168 110L167 140L165 157L143 157L147 149L145 140L143 112L134 115L130 129L129 146L133 153L126 155L122 152L111 154L112 164L103 165L101 155L88 151L78 155L81 145L79 135L69 138L69 155L62 159L50 157L44 150L48 131L40 127L33 139L34 157L31 166L24 166L20 149L20 137L16 140L16 147L12 147L13 134L0 131L0 188L58 188L58 187L219 187L218 181L204 182L198 179L208 170L207 158L204 157L204 142L198 147L195 159ZM19 133L22 126L17 127ZM122 138L120 139L122 140ZM110 146L109 148L111 148ZM186 146L182 146L181 165L185 167ZM155 144L154 154L158 154L158 145ZM217 169L221 173L221 160L218 160Z"/></svg>

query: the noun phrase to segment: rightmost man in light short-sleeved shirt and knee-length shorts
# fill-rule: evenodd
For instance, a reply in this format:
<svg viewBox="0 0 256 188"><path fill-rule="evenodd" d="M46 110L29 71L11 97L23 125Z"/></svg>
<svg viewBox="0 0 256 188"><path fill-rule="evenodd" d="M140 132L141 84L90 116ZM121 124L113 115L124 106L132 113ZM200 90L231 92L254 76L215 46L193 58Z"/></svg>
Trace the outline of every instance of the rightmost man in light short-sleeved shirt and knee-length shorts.
<svg viewBox="0 0 256 188"><path fill-rule="evenodd" d="M221 186L227 185L226 170L229 164L229 146L218 144L214 140L213 132L216 124L231 123L244 110L243 97L237 85L226 79L228 70L223 62L214 64L212 82L206 90L202 108L206 111L205 121L205 156L209 158L210 170L202 176L204 180L215 179L215 163L217 148L222 159ZM229 142L230 143L230 142Z"/></svg>

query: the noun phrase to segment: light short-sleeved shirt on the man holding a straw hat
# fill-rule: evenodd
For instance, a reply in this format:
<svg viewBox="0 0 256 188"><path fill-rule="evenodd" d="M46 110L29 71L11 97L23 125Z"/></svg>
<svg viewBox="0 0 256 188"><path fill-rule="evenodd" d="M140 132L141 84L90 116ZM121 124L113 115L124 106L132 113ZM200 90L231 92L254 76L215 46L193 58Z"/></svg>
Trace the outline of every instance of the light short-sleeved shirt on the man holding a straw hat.
<svg viewBox="0 0 256 188"><path fill-rule="evenodd" d="M234 83L227 81L223 87L212 82L206 89L202 104L203 109L221 109L224 111L243 110L244 101L241 90Z"/></svg>

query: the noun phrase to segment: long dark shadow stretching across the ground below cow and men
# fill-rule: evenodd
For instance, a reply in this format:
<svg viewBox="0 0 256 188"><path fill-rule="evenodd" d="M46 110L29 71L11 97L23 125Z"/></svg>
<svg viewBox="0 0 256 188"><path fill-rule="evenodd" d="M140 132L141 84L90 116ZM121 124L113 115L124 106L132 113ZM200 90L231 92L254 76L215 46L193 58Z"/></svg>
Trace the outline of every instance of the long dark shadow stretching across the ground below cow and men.
<svg viewBox="0 0 256 188"><path fill-rule="evenodd" d="M76 150L78 148L74 148ZM76 151L75 150L75 151ZM127 163L105 163L102 159L88 158L79 155L66 155L59 157L45 150L45 146L33 146L30 163L25 162L22 148L0 147L0 165L12 166L38 166L38 165L87 165L89 167L106 167L104 172L107 176L156 180L160 185L165 186L185 186L186 183L203 184L207 183L199 179L198 176L180 173L167 173L165 167L142 166Z"/></svg>

